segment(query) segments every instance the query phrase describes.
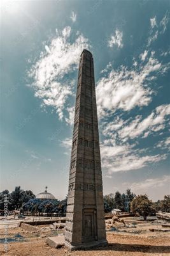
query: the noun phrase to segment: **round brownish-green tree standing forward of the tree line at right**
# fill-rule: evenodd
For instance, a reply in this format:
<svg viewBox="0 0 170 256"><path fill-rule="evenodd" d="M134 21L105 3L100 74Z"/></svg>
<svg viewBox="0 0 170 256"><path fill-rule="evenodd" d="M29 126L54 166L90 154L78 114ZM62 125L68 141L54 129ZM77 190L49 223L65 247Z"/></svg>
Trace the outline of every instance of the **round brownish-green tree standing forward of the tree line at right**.
<svg viewBox="0 0 170 256"><path fill-rule="evenodd" d="M153 209L152 200L149 200L148 196L145 194L133 198L131 202L131 211L134 212L134 214L139 213L146 221L147 216L152 214L155 210Z"/></svg>

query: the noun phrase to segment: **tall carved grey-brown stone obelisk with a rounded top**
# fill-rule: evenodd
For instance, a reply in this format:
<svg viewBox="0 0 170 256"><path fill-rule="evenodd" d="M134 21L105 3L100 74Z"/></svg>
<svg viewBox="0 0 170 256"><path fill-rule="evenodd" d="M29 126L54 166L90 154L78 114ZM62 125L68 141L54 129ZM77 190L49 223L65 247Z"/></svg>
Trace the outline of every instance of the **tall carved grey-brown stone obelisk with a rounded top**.
<svg viewBox="0 0 170 256"><path fill-rule="evenodd" d="M83 50L76 93L65 244L76 250L106 243L94 61L92 54Z"/></svg>

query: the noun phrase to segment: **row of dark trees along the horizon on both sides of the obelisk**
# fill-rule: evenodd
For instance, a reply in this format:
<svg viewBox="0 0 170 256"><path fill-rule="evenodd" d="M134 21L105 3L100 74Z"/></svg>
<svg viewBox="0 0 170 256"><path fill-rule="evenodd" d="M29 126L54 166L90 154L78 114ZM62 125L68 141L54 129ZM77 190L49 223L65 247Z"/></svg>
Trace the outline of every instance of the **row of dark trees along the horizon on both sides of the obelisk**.
<svg viewBox="0 0 170 256"><path fill-rule="evenodd" d="M4 209L4 195L8 198L8 211L23 209L24 211L38 211L49 213L66 214L67 197L64 200L40 200L37 199L31 190L16 187L11 193L4 190L0 193L0 211ZM111 212L113 209L120 209L124 212L140 214L144 220L148 215L155 215L155 212L170 212L170 195L164 196L163 200L152 202L145 195L136 196L131 189L125 193L117 191L104 196L104 211Z"/></svg>

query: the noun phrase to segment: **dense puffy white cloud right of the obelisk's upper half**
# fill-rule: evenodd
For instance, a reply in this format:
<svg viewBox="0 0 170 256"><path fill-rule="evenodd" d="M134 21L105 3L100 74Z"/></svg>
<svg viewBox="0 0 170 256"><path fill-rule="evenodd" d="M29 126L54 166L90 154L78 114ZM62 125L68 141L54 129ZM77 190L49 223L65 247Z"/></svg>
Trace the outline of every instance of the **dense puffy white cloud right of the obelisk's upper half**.
<svg viewBox="0 0 170 256"><path fill-rule="evenodd" d="M153 55L154 52L145 65L139 65L136 70L120 66L117 70L112 69L108 76L99 79L96 86L99 116L114 113L117 109L129 111L136 106L148 106L153 93L148 84L156 78L153 73L162 72L163 68Z"/></svg>

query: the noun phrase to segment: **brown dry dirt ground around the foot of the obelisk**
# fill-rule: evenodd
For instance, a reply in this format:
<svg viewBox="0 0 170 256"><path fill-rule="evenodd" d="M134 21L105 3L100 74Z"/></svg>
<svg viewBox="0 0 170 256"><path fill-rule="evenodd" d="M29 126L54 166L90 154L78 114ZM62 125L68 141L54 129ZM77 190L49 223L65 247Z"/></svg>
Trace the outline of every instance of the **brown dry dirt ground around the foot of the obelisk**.
<svg viewBox="0 0 170 256"><path fill-rule="evenodd" d="M67 248L53 249L46 245L46 237L56 236L57 230L42 230L39 232L25 232L22 228L9 228L8 237L15 237L8 246L8 253L4 252L4 245L0 243L0 255L5 256L163 256L170 255L170 232L151 232L149 228L159 228L157 223L139 221L135 227L125 228L122 223L115 224L117 231L107 232L108 246L95 249L69 252ZM44 226L45 227L45 226ZM3 238L0 233L0 239ZM44 237L41 237L44 236Z"/></svg>

